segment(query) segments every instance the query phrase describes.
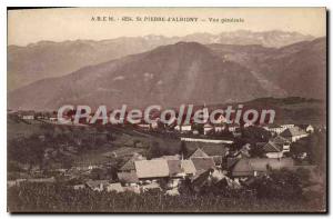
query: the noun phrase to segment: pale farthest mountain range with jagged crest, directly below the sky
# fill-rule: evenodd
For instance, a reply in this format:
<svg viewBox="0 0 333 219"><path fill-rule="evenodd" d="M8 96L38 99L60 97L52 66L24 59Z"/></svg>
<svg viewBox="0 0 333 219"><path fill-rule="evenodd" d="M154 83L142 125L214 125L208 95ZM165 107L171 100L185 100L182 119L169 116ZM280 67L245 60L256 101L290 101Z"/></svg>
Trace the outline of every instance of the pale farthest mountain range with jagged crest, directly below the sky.
<svg viewBox="0 0 333 219"><path fill-rule="evenodd" d="M297 32L239 30L220 34L193 33L184 37L145 36L111 40L40 41L27 47L8 47L8 89L14 90L40 79L71 73L85 66L102 63L128 54L152 50L179 41L202 44L261 44L283 47L313 40L314 37Z"/></svg>

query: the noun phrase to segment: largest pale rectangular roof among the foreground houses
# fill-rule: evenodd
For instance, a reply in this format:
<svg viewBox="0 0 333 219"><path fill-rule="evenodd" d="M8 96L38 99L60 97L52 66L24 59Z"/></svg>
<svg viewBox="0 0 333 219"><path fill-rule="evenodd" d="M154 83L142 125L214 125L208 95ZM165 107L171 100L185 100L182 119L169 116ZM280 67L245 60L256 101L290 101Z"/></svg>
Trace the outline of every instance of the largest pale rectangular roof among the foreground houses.
<svg viewBox="0 0 333 219"><path fill-rule="evenodd" d="M169 177L167 160L140 160L135 161L138 178Z"/></svg>

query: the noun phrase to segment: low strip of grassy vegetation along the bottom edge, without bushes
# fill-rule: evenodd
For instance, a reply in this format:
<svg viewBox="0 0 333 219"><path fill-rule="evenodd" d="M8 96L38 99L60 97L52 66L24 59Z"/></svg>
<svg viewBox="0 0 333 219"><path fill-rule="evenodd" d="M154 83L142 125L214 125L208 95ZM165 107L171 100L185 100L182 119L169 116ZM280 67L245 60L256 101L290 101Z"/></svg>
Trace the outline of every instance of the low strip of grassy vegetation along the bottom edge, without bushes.
<svg viewBox="0 0 333 219"><path fill-rule="evenodd" d="M238 211L319 211L317 200L281 200L223 197L213 193L164 196L94 192L57 187L9 189L10 212L238 212Z"/></svg>

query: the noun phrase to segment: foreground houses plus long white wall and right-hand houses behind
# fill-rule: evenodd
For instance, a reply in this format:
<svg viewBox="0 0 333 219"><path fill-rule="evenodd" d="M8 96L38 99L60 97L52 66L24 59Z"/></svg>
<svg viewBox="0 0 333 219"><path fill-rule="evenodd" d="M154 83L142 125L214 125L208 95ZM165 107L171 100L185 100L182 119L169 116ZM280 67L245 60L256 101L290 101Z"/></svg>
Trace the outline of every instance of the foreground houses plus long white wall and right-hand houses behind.
<svg viewBox="0 0 333 219"><path fill-rule="evenodd" d="M168 195L179 195L178 188L188 180L193 189L212 181L224 180L232 188L240 188L249 178L266 175L270 170L282 168L296 169L293 158L285 157L291 143L311 132L312 126L281 126L274 131L275 137L269 142L258 142L262 157L252 158L249 153L251 146L245 145L238 151L230 151L232 142L220 142L218 139L182 138L182 141L196 143L198 147L189 156L162 156L148 160L134 153L118 171L118 182L89 181L87 186L93 190L134 191L143 192L150 189L165 189ZM269 129L269 128L268 128ZM282 130L283 129L283 130ZM278 135L279 133L279 135ZM276 136L278 135L278 136ZM205 147L205 146L210 147ZM211 151L210 148L214 148ZM222 149L216 152L215 149Z"/></svg>

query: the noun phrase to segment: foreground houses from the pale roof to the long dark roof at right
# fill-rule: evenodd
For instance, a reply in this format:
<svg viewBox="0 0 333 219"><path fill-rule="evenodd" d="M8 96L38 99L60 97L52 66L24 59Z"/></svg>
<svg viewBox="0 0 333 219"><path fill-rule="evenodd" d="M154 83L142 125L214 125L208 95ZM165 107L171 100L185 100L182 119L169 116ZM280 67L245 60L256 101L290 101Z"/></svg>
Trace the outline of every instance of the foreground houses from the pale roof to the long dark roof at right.
<svg viewBox="0 0 333 219"><path fill-rule="evenodd" d="M133 155L119 169L118 182L89 180L85 185L75 185L73 188L137 193L158 189L164 190L167 195L178 196L180 195L179 187L184 181L190 182L195 191L221 180L224 180L231 188L241 188L243 181L266 175L271 169L296 168L292 158L226 158L225 155L223 158L209 156L200 148L186 159L175 155L147 160L140 155Z"/></svg>

